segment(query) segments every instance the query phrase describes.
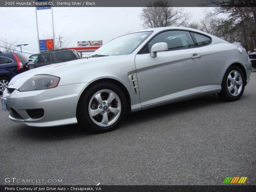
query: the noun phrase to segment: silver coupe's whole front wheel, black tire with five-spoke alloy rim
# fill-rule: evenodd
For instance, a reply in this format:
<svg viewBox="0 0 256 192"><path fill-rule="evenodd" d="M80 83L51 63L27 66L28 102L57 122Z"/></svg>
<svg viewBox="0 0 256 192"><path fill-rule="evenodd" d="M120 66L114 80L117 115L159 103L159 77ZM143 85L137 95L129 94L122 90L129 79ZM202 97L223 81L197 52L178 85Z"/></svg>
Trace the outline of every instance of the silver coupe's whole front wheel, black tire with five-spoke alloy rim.
<svg viewBox="0 0 256 192"><path fill-rule="evenodd" d="M123 91L111 83L92 84L80 97L76 118L90 132L108 132L117 128L127 111Z"/></svg>

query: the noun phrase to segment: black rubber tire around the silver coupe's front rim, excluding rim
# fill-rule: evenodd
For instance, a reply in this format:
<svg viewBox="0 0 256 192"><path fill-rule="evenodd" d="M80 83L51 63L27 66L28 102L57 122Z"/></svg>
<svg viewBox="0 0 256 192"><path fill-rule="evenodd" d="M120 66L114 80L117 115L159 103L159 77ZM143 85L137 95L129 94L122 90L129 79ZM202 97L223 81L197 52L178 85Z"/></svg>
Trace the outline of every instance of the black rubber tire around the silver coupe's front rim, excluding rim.
<svg viewBox="0 0 256 192"><path fill-rule="evenodd" d="M110 90L117 94L121 101L121 113L116 121L109 125L109 126L99 126L95 124L89 114L89 104L90 100L92 99L93 95L101 90ZM108 83L108 82L100 82L90 85L86 91L84 91L78 101L77 110L76 110L76 118L80 128L86 129L89 132L108 132L116 129L118 125L124 120L124 117L127 112L127 102L126 97L123 91L116 86L115 84Z"/></svg>

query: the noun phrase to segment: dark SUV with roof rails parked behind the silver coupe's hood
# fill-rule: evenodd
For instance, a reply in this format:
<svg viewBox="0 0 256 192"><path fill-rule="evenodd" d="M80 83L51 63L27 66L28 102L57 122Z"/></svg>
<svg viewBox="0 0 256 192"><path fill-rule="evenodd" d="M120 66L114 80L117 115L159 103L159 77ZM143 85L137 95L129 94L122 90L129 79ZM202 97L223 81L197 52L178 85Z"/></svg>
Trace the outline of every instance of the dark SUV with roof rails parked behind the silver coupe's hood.
<svg viewBox="0 0 256 192"><path fill-rule="evenodd" d="M29 56L29 58L33 60L33 62L36 64L36 67L81 59L79 53L76 50L69 49L44 51L38 54L31 55Z"/></svg>

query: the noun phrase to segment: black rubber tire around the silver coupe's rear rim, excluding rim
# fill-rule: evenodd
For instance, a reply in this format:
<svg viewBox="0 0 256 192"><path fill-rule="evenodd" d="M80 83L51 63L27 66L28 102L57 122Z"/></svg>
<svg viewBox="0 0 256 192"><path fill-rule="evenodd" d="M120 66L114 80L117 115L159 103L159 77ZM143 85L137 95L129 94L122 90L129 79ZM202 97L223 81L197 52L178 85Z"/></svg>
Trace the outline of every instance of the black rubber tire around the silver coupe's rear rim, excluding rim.
<svg viewBox="0 0 256 192"><path fill-rule="evenodd" d="M239 74L241 75L241 80L242 80L241 91L236 96L233 96L228 91L228 85L227 85L228 75L233 70L236 70L237 72L239 72ZM236 101L236 100L240 99L240 97L243 95L243 93L244 93L244 86L245 86L245 79L244 79L244 74L243 74L242 70L240 68L236 67L236 66L231 66L231 67L228 68L228 70L226 71L226 73L225 73L225 75L223 77L222 84L221 84L221 92L218 93L218 95L224 101Z"/></svg>

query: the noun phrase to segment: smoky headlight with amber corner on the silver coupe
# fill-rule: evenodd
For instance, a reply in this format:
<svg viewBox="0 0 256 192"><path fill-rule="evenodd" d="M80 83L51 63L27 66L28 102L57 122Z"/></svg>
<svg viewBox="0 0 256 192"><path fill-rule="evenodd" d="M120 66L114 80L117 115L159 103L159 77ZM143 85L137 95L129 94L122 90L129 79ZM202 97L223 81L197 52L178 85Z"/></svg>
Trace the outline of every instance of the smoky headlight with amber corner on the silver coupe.
<svg viewBox="0 0 256 192"><path fill-rule="evenodd" d="M35 91L42 89L51 89L57 87L60 82L60 77L53 75L35 75L30 77L23 85L21 85L19 91Z"/></svg>

